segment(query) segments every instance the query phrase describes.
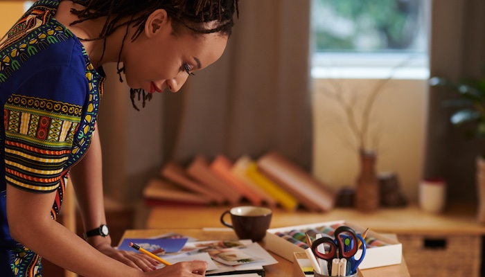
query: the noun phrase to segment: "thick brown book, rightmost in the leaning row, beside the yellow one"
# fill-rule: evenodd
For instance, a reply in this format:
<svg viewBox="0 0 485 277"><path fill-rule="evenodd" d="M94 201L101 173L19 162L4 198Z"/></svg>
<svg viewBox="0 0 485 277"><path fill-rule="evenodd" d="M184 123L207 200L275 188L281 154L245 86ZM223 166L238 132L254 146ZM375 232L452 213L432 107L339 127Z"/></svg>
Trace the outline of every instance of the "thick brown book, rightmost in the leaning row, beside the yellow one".
<svg viewBox="0 0 485 277"><path fill-rule="evenodd" d="M329 211L335 204L335 193L281 154L269 152L257 161L258 169L269 179L294 195L313 211Z"/></svg>

